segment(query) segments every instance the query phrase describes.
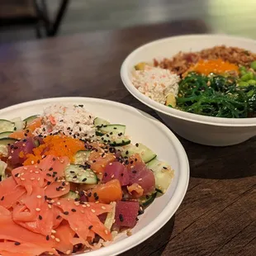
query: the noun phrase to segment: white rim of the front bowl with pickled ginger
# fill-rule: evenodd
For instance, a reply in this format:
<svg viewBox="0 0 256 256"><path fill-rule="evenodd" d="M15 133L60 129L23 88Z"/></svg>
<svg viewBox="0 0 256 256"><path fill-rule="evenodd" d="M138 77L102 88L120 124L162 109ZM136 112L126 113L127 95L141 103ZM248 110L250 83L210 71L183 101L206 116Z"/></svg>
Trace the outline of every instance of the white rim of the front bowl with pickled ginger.
<svg viewBox="0 0 256 256"><path fill-rule="evenodd" d="M183 145L178 140L178 138L173 134L171 130L168 129L167 126L164 126L163 123L158 121L154 116L150 116L148 113L144 111L140 111L135 107L130 107L126 104L120 102L109 101L100 98L92 98L92 97L52 97L45 98L40 100L34 100L29 102L23 102L16 105L12 105L11 107L5 107L0 109L0 115L4 114L6 111L16 111L21 107L36 107L36 105L40 105L41 103L57 103L57 102L94 102L97 104L107 104L111 106L115 106L118 108L122 108L124 111L131 111L135 115L142 115L142 117L147 118L149 121L154 122L155 126L158 126L159 130L163 132L169 140L172 141L173 147L178 155L178 164L179 164L179 178L176 185L176 188L173 192L173 196L169 199L167 205L164 207L164 210L159 214L157 218L152 220L149 225L146 225L141 230L137 231L135 235L131 235L117 241L115 244L110 244L105 248L98 249L95 251L91 251L88 253L78 254L78 255L88 255L88 256L115 256L117 254L121 254L128 249L135 247L136 245L145 241L150 236L154 235L160 228L162 228L168 220L175 214L178 210L178 207L181 205L183 198L187 192L188 182L189 182L189 162L187 159L187 154ZM169 142L170 143L170 142Z"/></svg>

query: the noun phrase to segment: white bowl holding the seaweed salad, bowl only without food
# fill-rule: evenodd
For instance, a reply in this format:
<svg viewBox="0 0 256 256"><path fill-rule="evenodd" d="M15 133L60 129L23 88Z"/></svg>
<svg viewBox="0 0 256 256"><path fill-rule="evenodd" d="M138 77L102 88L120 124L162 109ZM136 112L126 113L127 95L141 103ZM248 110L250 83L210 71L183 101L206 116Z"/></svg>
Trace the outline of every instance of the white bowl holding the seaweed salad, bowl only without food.
<svg viewBox="0 0 256 256"><path fill-rule="evenodd" d="M220 118L200 116L154 102L131 83L135 64L154 58L171 58L179 51L198 51L216 45L236 46L256 52L256 41L223 35L174 36L155 40L134 50L121 66L121 79L127 90L140 102L153 108L178 135L202 145L236 145L256 135L256 118Z"/></svg>

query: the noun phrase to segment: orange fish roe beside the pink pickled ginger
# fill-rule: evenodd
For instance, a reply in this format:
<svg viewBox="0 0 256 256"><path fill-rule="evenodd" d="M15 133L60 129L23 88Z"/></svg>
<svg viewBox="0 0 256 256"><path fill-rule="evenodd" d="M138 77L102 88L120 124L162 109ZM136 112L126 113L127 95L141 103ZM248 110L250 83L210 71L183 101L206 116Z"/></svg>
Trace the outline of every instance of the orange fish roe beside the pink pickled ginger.
<svg viewBox="0 0 256 256"><path fill-rule="evenodd" d="M23 165L36 164L43 155L67 156L73 162L73 155L84 149L81 140L60 135L49 135L43 139L45 144L33 149L34 154L26 154L26 161Z"/></svg>

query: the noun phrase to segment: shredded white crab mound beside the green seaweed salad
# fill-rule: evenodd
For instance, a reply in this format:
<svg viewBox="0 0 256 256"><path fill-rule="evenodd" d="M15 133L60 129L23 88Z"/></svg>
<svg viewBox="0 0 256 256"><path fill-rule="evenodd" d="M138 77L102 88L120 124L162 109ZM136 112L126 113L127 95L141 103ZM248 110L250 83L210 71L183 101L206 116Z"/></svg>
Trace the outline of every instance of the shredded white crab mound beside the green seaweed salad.
<svg viewBox="0 0 256 256"><path fill-rule="evenodd" d="M165 104L169 93L173 93L177 97L179 80L179 76L176 73L171 73L168 69L146 65L145 70L135 70L132 83L145 96L155 102Z"/></svg>

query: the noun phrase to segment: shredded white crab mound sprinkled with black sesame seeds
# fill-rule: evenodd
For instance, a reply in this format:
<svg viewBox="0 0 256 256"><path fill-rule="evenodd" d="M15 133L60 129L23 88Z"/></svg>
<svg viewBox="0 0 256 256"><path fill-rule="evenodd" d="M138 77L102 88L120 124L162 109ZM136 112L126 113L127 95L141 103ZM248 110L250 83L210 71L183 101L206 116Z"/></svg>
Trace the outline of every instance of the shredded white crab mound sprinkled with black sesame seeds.
<svg viewBox="0 0 256 256"><path fill-rule="evenodd" d="M51 105L45 108L42 115L42 126L34 131L34 135L45 136L59 133L77 139L89 140L95 135L94 119L95 116L86 111L83 105Z"/></svg>

